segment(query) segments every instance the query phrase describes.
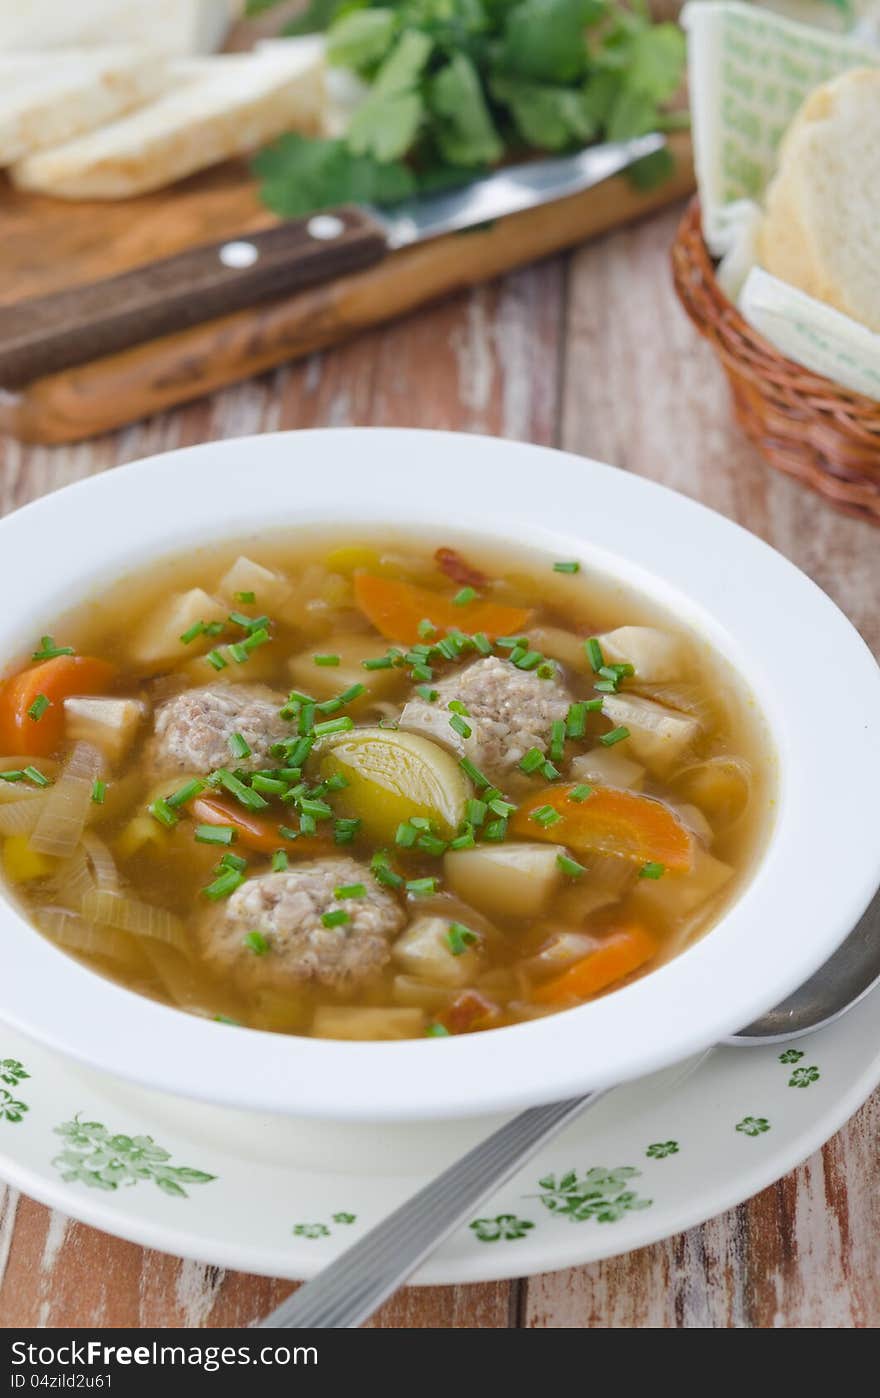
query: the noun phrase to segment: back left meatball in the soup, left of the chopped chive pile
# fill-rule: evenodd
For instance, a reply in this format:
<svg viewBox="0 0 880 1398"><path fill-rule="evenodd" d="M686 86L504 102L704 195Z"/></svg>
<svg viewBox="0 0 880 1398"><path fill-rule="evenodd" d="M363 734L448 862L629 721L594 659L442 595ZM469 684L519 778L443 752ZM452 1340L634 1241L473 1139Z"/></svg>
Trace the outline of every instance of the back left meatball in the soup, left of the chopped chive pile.
<svg viewBox="0 0 880 1398"><path fill-rule="evenodd" d="M154 738L147 761L157 772L213 772L214 768L271 766L269 749L292 728L278 710L284 695L266 685L206 685L185 689L155 713ZM241 733L249 758L234 758L229 738Z"/></svg>

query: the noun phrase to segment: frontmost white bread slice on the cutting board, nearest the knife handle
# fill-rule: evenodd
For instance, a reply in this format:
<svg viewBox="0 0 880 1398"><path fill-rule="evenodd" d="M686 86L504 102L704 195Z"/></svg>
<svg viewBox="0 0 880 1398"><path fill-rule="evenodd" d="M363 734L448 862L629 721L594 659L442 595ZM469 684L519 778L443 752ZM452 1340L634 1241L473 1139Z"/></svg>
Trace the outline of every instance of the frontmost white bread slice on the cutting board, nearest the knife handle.
<svg viewBox="0 0 880 1398"><path fill-rule="evenodd" d="M18 161L13 180L62 199L129 199L281 131L318 129L323 64L315 50L224 53L169 71L171 87L148 106Z"/></svg>

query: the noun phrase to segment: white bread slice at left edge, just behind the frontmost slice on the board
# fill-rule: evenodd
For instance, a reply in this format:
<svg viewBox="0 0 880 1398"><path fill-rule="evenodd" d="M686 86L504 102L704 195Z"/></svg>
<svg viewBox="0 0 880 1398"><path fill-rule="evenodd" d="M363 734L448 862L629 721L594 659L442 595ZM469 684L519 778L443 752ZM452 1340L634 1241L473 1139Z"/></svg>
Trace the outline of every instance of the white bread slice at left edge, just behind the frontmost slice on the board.
<svg viewBox="0 0 880 1398"><path fill-rule="evenodd" d="M0 165L150 101L165 69L158 55L132 45L0 55Z"/></svg>

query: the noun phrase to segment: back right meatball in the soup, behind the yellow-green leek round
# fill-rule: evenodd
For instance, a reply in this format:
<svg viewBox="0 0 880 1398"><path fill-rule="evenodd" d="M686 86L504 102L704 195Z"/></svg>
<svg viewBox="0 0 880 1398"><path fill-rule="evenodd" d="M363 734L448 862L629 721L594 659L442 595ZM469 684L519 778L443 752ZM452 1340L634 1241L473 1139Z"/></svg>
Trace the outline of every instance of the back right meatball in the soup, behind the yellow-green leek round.
<svg viewBox="0 0 880 1398"><path fill-rule="evenodd" d="M410 699L400 717L403 728L455 748L487 774L501 776L520 761L529 748L546 748L550 726L568 713L571 695L558 679L540 679L532 670L518 670L509 660L490 656L435 685L438 698ZM457 699L467 709L471 730L462 738L449 726L449 703Z"/></svg>

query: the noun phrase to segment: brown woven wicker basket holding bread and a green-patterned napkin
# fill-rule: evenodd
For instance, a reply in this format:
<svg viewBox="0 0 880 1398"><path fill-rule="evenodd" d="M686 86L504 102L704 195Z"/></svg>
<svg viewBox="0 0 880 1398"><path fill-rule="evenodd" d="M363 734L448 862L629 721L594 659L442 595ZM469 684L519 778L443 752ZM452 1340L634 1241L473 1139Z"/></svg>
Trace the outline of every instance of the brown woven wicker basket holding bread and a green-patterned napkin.
<svg viewBox="0 0 880 1398"><path fill-rule="evenodd" d="M880 403L785 359L715 280L691 200L672 249L681 305L721 359L733 410L771 466L841 510L880 524Z"/></svg>

